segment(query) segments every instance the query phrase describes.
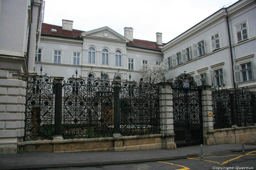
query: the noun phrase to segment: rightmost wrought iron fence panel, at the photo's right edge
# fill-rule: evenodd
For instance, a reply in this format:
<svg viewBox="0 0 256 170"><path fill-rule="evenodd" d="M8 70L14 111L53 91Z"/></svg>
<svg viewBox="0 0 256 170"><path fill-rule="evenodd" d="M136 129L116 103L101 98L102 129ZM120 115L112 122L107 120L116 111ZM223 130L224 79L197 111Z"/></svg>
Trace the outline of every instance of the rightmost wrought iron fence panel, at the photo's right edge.
<svg viewBox="0 0 256 170"><path fill-rule="evenodd" d="M237 126L251 126L253 122L252 94L246 89L234 91Z"/></svg>

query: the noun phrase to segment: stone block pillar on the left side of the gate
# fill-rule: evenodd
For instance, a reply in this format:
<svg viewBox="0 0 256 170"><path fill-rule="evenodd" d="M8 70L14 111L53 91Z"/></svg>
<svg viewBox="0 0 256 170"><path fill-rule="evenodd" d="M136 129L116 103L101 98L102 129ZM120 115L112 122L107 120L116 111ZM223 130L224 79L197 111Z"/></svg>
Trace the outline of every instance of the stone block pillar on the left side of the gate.
<svg viewBox="0 0 256 170"><path fill-rule="evenodd" d="M160 133L163 135L163 149L176 149L173 126L173 93L171 83L158 83Z"/></svg>

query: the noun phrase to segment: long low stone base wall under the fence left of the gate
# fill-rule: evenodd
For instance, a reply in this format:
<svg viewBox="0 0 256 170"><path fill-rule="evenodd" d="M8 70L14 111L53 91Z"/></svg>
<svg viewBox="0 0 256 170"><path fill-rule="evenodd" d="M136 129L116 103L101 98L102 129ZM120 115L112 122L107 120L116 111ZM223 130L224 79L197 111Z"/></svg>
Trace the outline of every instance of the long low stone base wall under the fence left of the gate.
<svg viewBox="0 0 256 170"><path fill-rule="evenodd" d="M132 151L163 149L165 135L142 135L118 138L65 139L60 141L27 141L18 143L21 152Z"/></svg>

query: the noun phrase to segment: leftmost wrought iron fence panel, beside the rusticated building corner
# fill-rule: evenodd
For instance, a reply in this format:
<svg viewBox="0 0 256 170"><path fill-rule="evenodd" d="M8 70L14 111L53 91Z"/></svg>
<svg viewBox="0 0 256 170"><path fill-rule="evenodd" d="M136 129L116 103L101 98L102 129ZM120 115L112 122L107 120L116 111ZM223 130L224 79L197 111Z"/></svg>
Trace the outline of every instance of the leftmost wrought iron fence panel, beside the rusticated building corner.
<svg viewBox="0 0 256 170"><path fill-rule="evenodd" d="M24 141L52 139L53 83L47 74L27 80Z"/></svg>

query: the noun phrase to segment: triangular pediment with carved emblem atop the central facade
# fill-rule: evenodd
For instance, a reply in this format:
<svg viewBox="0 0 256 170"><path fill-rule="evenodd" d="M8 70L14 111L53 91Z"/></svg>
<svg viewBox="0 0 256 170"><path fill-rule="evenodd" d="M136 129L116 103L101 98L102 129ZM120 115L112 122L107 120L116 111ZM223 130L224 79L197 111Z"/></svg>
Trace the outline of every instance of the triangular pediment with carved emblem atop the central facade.
<svg viewBox="0 0 256 170"><path fill-rule="evenodd" d="M102 27L102 28L91 30L91 31L83 32L81 33L80 37L83 37L83 36L98 37L98 38L104 38L104 39L112 39L112 40L129 42L127 38L125 38L123 35L114 31L109 27Z"/></svg>

